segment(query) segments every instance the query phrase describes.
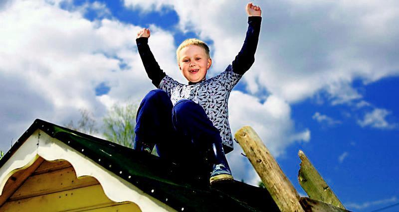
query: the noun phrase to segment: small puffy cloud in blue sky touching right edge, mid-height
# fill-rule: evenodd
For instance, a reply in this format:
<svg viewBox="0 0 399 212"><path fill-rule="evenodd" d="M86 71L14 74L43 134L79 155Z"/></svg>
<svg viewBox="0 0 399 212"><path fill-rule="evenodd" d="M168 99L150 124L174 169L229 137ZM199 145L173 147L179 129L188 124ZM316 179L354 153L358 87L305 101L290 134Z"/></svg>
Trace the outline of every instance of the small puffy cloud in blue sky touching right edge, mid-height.
<svg viewBox="0 0 399 212"><path fill-rule="evenodd" d="M358 120L358 124L362 127L370 126L379 129L397 128L397 123L389 123L386 117L391 114L390 111L381 108L375 108L373 111L365 114L362 120Z"/></svg>

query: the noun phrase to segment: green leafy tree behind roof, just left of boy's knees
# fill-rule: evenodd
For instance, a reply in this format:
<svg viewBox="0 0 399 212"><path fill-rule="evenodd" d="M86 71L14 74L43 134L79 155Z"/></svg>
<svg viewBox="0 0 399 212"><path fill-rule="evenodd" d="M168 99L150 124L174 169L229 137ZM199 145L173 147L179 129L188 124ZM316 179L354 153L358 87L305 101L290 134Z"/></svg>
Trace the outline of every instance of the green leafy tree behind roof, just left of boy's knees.
<svg viewBox="0 0 399 212"><path fill-rule="evenodd" d="M136 112L136 104L114 105L103 118L104 137L109 141L132 148L135 138Z"/></svg>

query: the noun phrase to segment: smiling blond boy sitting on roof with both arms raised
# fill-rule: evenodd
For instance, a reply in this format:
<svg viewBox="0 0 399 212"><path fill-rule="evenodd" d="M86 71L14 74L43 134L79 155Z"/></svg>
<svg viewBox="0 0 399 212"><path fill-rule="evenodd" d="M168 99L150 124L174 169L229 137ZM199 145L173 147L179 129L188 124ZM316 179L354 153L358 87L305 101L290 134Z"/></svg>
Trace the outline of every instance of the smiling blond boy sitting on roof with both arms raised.
<svg viewBox="0 0 399 212"><path fill-rule="evenodd" d="M248 30L244 44L232 65L221 74L206 80L212 60L204 42L187 39L179 46L176 56L188 85L160 69L147 44L150 30L138 32L140 57L148 77L159 89L147 94L139 106L135 149L151 152L156 144L160 157L211 173L211 184L233 179L224 155L224 151L233 149L227 102L232 88L255 60L261 22L260 7L248 3L246 12Z"/></svg>

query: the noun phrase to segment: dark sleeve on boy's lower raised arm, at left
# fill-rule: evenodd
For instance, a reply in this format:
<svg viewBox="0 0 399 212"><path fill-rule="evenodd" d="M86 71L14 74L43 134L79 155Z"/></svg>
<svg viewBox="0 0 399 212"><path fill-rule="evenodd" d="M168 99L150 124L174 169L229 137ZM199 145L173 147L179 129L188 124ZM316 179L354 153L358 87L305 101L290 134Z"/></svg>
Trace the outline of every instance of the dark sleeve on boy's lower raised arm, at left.
<svg viewBox="0 0 399 212"><path fill-rule="evenodd" d="M150 46L148 46L148 37L137 38L136 44L147 75L152 80L154 86L158 88L161 80L166 76L166 74L159 67L153 53L150 50Z"/></svg>

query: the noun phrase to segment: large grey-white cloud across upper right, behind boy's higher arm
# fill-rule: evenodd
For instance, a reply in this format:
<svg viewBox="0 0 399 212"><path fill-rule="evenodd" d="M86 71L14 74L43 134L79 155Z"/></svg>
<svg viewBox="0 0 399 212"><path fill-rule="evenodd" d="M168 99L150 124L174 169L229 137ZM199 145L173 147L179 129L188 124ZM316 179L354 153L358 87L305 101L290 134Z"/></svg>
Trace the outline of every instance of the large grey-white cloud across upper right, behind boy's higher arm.
<svg viewBox="0 0 399 212"><path fill-rule="evenodd" d="M214 41L216 70L233 60L245 36L245 2L124 2L147 11L162 11L163 6L176 10L184 31ZM399 73L398 1L256 3L263 10L262 29L256 62L243 78L252 94L267 90L292 103L326 91L337 105L362 98L352 87L354 79L370 83Z"/></svg>

